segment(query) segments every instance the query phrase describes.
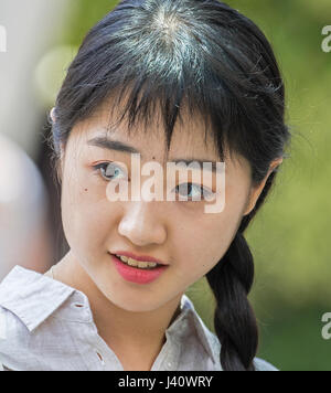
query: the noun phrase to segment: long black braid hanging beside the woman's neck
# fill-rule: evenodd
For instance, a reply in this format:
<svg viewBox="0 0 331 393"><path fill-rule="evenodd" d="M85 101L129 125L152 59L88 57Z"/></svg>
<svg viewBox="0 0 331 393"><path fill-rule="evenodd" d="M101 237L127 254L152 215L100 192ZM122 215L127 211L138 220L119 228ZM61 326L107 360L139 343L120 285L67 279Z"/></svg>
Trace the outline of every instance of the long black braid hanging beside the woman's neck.
<svg viewBox="0 0 331 393"><path fill-rule="evenodd" d="M237 232L224 257L206 275L216 299L214 326L224 371L255 371L258 329L247 295L254 279L253 255Z"/></svg>

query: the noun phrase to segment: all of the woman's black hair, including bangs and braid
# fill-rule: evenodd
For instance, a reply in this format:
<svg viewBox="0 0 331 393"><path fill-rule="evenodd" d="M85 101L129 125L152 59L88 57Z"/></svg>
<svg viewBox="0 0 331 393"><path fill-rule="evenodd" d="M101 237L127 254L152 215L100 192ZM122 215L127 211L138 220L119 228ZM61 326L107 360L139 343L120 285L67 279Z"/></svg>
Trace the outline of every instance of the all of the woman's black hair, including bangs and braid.
<svg viewBox="0 0 331 393"><path fill-rule="evenodd" d="M127 95L126 95L127 94ZM125 105L122 97L127 96ZM273 49L254 22L216 0L124 0L85 36L57 95L52 147L107 98L128 130L161 109L167 147L183 108L200 115L224 160L250 164L259 184L290 140L285 88ZM148 129L148 127L146 128ZM274 170L222 259L206 274L215 296L223 370L254 371L258 328L247 299L254 261L244 231L269 192Z"/></svg>

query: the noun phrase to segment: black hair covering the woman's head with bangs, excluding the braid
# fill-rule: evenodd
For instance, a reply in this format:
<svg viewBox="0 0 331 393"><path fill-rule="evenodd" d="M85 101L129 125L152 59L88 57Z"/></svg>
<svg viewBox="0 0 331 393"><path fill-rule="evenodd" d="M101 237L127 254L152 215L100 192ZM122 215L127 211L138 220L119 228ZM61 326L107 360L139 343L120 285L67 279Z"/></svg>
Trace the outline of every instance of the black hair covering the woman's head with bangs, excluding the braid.
<svg viewBox="0 0 331 393"><path fill-rule="evenodd" d="M111 98L109 120L119 111L129 135L137 124L151 131L160 113L167 150L177 121L202 119L204 141L212 137L220 160L241 155L259 180L282 155L287 129L277 63L256 31L217 2L120 2L87 33L68 68L55 142Z"/></svg>

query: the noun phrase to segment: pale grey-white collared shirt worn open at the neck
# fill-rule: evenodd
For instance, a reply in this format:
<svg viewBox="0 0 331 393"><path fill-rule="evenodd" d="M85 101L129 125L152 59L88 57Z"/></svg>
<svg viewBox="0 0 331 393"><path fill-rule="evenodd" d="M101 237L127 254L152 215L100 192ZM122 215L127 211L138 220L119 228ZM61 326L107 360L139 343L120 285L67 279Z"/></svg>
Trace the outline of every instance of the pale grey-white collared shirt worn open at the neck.
<svg viewBox="0 0 331 393"><path fill-rule="evenodd" d="M151 371L222 371L220 341L186 295ZM124 371L98 334L82 291L15 266L0 284L0 369ZM276 371L255 358L258 371Z"/></svg>

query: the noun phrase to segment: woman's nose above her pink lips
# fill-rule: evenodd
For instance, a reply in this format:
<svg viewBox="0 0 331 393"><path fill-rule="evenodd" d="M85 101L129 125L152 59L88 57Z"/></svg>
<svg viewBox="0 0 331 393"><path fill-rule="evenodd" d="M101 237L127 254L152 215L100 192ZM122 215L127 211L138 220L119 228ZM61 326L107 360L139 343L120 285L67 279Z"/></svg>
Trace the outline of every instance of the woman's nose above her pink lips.
<svg viewBox="0 0 331 393"><path fill-rule="evenodd" d="M137 246L162 244L167 238L164 206L160 201L126 202L118 232ZM162 213L163 211L163 213Z"/></svg>

